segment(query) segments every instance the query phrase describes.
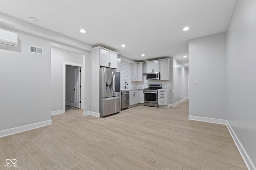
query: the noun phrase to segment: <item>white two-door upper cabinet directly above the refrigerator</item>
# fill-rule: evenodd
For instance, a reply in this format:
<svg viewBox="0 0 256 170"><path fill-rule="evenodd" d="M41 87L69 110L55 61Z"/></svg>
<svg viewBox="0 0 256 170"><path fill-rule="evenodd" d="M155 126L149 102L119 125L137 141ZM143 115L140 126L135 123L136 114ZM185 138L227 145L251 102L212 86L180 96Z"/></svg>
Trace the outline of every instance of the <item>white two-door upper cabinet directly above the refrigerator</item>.
<svg viewBox="0 0 256 170"><path fill-rule="evenodd" d="M117 68L117 54L100 49L100 66Z"/></svg>

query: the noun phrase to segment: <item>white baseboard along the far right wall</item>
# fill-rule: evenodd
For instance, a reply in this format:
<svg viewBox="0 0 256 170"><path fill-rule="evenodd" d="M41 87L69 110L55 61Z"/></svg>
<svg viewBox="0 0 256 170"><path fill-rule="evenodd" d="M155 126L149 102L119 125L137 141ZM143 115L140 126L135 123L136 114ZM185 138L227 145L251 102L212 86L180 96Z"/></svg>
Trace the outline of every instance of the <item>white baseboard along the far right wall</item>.
<svg viewBox="0 0 256 170"><path fill-rule="evenodd" d="M228 123L228 121L227 121L227 128L228 128L228 131L229 131L230 135L232 136L232 138L236 144L236 147L239 150L248 170L256 170L252 160L250 159L250 157L244 150L243 145L240 143L239 139L236 137L236 133L234 133L234 131L233 131L232 127L230 126L230 124Z"/></svg>

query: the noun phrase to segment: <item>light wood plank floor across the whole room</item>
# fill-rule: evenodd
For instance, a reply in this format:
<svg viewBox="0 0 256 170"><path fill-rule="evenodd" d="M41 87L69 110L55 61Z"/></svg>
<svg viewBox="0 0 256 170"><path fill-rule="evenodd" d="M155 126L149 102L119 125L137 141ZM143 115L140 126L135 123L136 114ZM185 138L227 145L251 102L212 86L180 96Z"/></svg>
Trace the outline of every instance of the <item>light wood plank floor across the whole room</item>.
<svg viewBox="0 0 256 170"><path fill-rule="evenodd" d="M188 120L176 107L136 106L97 118L68 107L53 125L0 138L0 169L244 170L225 125ZM4 162L4 163L3 163Z"/></svg>

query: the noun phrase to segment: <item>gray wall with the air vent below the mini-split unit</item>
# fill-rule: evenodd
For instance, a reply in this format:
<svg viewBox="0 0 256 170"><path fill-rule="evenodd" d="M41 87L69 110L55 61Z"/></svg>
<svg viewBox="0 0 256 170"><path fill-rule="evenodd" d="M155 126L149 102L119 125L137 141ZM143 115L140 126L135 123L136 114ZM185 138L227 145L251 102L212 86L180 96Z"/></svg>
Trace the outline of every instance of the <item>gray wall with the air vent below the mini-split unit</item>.
<svg viewBox="0 0 256 170"><path fill-rule="evenodd" d="M0 131L51 120L50 42L18 33L17 48L0 48ZM29 52L43 48L43 55Z"/></svg>

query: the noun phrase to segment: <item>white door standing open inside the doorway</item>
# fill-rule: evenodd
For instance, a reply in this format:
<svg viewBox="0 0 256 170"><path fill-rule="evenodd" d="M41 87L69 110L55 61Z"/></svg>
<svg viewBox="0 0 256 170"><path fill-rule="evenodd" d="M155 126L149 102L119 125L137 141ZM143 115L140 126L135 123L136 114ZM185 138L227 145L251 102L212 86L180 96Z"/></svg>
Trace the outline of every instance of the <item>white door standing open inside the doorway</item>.
<svg viewBox="0 0 256 170"><path fill-rule="evenodd" d="M78 109L81 108L80 96L81 96L81 86L80 86L80 67L75 68L75 100L74 106Z"/></svg>

